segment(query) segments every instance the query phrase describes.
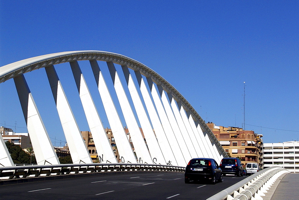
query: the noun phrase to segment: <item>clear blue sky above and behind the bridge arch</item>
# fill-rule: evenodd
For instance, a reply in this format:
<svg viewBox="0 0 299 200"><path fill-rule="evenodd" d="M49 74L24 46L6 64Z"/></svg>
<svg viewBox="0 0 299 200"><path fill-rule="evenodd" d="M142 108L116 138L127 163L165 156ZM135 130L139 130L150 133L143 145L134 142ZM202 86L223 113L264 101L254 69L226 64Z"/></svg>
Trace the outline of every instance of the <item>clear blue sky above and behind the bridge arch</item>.
<svg viewBox="0 0 299 200"><path fill-rule="evenodd" d="M242 127L245 81L245 128L264 143L298 140L298 8L299 1L0 0L0 66L62 51L123 54L169 81L206 122L225 127ZM44 81L40 71L25 77ZM28 84L49 90L47 82ZM26 127L13 80L0 94L0 125ZM47 115L53 97L35 101L50 137L65 141Z"/></svg>

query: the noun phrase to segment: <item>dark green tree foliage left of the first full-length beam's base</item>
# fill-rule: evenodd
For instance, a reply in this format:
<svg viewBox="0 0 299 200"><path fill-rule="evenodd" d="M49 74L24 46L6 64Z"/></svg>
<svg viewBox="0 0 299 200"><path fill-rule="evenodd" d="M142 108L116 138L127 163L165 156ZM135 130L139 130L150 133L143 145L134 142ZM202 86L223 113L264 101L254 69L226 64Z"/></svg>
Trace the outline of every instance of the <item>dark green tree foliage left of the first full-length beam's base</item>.
<svg viewBox="0 0 299 200"><path fill-rule="evenodd" d="M15 164L30 164L30 155L27 154L19 145L10 143L9 141L5 142L10 157ZM32 162L36 164L35 156L32 156Z"/></svg>

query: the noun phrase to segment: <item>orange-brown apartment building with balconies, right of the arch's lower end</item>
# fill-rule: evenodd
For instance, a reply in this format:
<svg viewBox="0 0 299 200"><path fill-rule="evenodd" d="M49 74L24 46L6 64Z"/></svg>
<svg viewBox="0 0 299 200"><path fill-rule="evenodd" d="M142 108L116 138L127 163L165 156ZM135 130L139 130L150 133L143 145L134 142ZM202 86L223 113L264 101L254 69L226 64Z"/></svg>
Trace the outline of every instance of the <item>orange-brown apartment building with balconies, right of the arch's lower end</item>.
<svg viewBox="0 0 299 200"><path fill-rule="evenodd" d="M262 134L239 127L216 126L213 122L208 122L207 125L231 157L239 157L243 166L256 162L263 169Z"/></svg>

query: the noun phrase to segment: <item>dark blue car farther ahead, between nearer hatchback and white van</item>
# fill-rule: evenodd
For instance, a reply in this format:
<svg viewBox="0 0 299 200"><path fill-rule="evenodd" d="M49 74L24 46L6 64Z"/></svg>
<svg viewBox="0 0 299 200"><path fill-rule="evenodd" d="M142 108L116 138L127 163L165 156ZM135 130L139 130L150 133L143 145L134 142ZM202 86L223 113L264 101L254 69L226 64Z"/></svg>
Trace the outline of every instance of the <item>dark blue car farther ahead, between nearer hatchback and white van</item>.
<svg viewBox="0 0 299 200"><path fill-rule="evenodd" d="M243 166L239 158L222 158L220 168L224 176L226 174L243 176Z"/></svg>

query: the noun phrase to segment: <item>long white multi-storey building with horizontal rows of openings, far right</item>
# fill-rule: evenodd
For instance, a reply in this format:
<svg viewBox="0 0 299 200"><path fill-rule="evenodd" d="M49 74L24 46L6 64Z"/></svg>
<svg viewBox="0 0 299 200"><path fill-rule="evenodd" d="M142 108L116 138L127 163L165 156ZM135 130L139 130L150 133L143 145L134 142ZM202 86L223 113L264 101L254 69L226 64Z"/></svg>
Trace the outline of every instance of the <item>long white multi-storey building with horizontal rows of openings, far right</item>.
<svg viewBox="0 0 299 200"><path fill-rule="evenodd" d="M264 168L280 166L290 172L299 172L299 142L264 143Z"/></svg>

